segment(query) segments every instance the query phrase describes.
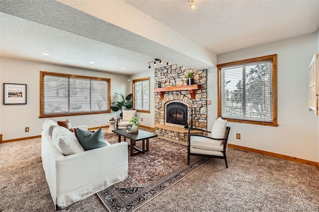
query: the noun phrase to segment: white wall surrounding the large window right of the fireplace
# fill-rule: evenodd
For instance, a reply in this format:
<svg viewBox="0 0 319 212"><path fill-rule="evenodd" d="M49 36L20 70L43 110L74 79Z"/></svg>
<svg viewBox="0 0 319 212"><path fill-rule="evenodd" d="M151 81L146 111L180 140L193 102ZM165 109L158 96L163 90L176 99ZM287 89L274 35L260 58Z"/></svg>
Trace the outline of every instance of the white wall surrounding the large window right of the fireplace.
<svg viewBox="0 0 319 212"><path fill-rule="evenodd" d="M217 55L217 63L277 54L278 127L229 122L229 143L318 161L319 121L308 111L308 68L317 50L317 32ZM208 129L217 117L217 73L208 71ZM241 133L241 139L235 134Z"/></svg>

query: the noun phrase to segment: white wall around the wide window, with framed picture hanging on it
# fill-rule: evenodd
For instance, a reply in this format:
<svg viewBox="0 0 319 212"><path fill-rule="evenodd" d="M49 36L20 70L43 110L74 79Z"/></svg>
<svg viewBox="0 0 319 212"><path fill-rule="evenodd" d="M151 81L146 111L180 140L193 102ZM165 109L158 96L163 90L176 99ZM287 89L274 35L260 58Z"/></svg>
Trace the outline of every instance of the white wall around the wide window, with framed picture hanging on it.
<svg viewBox="0 0 319 212"><path fill-rule="evenodd" d="M0 105L0 134L3 134L2 140L41 134L42 123L45 118L39 118L40 71L110 78L111 102L120 100L114 92L125 94L130 86L130 83L128 83L129 77L126 75L0 57L0 93L3 94L3 83L27 85L26 105L3 105L3 103ZM68 118L73 126L99 127L109 125L107 121L111 117L118 117L119 114L119 111L112 111L111 113L61 116L50 119L56 121ZM95 123L95 120L99 120L99 123ZM30 127L30 131L24 132L25 127Z"/></svg>

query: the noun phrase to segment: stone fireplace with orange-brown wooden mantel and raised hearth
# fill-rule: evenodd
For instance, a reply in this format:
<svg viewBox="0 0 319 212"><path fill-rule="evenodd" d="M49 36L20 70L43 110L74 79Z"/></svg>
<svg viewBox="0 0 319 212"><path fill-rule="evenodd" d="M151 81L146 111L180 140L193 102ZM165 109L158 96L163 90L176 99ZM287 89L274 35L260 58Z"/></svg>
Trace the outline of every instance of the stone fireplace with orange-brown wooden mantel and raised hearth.
<svg viewBox="0 0 319 212"><path fill-rule="evenodd" d="M192 86L187 86L185 75L188 72L193 73L194 85ZM157 134L185 141L188 125L192 124L196 128L207 129L206 73L207 70L196 71L177 65L155 69L155 129ZM161 88L159 88L159 82ZM193 120L192 123L191 120Z"/></svg>

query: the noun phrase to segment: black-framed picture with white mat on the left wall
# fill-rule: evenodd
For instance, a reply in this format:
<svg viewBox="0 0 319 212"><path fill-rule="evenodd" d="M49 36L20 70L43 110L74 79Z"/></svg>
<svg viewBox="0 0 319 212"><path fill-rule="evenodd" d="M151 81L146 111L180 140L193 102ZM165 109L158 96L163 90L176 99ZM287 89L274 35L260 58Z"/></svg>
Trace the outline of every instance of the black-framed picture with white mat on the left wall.
<svg viewBox="0 0 319 212"><path fill-rule="evenodd" d="M20 104L26 104L26 84L3 83L3 105Z"/></svg>

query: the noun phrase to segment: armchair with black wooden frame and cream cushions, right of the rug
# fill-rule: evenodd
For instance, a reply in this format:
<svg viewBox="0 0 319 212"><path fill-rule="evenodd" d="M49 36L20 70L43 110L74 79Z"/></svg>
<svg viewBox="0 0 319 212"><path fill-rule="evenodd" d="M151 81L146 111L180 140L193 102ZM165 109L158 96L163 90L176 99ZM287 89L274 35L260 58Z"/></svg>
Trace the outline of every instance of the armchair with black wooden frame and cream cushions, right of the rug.
<svg viewBox="0 0 319 212"><path fill-rule="evenodd" d="M209 133L206 135L191 134L191 130L201 130ZM230 127L227 126L227 121L220 117L216 119L211 131L197 129L190 127L188 129L188 154L187 154L187 165L189 165L190 155L210 157L210 158L221 158L225 160L226 168L227 159L227 143Z"/></svg>

